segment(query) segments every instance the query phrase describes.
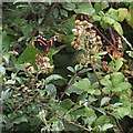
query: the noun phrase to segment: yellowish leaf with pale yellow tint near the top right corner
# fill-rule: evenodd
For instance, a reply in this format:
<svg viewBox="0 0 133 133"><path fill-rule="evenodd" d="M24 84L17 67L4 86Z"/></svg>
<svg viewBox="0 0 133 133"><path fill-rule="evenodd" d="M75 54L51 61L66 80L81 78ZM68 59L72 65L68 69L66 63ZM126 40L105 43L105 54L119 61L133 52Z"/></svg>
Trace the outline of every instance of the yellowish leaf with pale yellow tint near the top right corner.
<svg viewBox="0 0 133 133"><path fill-rule="evenodd" d="M127 9L126 8L119 8L117 11L119 11L119 21L122 22L127 14Z"/></svg>

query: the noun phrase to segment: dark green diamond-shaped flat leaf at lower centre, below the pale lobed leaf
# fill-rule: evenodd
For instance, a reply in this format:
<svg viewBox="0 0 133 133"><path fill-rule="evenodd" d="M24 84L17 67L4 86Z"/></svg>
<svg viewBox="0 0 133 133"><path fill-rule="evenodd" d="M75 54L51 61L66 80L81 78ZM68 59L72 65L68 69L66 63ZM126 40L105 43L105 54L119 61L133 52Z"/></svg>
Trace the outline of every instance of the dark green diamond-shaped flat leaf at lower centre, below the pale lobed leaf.
<svg viewBox="0 0 133 133"><path fill-rule="evenodd" d="M65 99L60 103L60 106L69 110L74 103L70 99Z"/></svg>

